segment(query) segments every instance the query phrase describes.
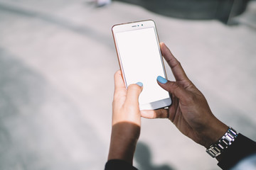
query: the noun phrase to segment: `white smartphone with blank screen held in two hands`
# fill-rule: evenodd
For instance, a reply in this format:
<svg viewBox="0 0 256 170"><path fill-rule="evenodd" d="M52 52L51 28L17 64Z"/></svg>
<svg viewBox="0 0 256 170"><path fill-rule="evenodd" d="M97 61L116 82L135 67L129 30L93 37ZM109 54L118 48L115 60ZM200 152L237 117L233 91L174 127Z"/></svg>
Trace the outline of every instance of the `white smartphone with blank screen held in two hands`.
<svg viewBox="0 0 256 170"><path fill-rule="evenodd" d="M169 92L156 81L158 76L166 78L166 72L154 21L117 24L112 27L112 34L126 87L143 83L140 110L170 106Z"/></svg>

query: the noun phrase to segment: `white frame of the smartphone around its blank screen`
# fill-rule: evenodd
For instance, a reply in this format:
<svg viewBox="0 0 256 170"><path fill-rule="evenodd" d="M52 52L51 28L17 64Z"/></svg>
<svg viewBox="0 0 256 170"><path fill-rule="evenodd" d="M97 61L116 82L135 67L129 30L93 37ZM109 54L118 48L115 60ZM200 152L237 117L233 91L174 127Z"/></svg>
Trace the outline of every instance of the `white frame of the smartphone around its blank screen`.
<svg viewBox="0 0 256 170"><path fill-rule="evenodd" d="M130 31L130 30L139 30L139 29L144 29L144 28L154 28L154 32L156 35L156 40L157 40L157 44L158 44L158 49L159 49L159 54L160 54L160 58L161 58L161 64L162 64L162 68L164 70L164 77L167 79L166 77L166 70L164 67L164 60L163 57L161 55L161 49L160 49L160 43L159 43L159 36L158 33L156 31L156 24L154 23L153 20L145 20L145 21L135 21L135 22L130 22L130 23L120 23L120 24L116 24L114 26L112 26L112 35L114 38L114 46L117 52L117 58L118 58L118 62L119 62L119 67L121 69L122 72L122 78L124 80L124 84L127 87L127 81L125 79L125 74L124 74L124 70L122 67L122 60L121 57L119 56L119 48L117 47L117 42L116 42L116 37L115 34L116 33L121 33L121 32L125 32L125 31ZM139 105L140 110L156 110L159 108L165 108L167 106L171 105L171 96L169 94L169 98L164 98L160 101L154 101L151 103L145 103L143 105Z"/></svg>

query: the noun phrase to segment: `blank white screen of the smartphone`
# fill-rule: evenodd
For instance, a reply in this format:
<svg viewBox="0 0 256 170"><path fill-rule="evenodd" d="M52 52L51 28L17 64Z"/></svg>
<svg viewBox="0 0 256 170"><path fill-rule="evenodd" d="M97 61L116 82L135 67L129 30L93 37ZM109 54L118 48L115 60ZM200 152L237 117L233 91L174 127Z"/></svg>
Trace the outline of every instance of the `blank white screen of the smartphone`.
<svg viewBox="0 0 256 170"><path fill-rule="evenodd" d="M158 76L164 77L164 69L154 28L117 33L116 40L127 86L143 83L139 104L169 98L156 82Z"/></svg>

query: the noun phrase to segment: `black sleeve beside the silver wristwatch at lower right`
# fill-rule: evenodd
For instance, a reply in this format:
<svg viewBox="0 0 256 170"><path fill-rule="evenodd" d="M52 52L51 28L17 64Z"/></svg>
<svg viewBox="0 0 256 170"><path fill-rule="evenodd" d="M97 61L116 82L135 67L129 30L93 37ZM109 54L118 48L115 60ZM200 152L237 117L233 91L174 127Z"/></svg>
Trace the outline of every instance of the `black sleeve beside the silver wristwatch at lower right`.
<svg viewBox="0 0 256 170"><path fill-rule="evenodd" d="M238 134L232 145L221 154L218 166L221 169L230 169L245 157L256 153L256 142L244 135Z"/></svg>

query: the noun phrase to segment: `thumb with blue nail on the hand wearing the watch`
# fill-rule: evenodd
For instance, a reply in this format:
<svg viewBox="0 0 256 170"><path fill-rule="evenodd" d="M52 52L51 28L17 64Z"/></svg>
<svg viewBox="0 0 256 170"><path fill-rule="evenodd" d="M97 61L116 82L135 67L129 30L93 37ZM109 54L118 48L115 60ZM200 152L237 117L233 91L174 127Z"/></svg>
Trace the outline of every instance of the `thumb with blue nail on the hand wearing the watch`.
<svg viewBox="0 0 256 170"><path fill-rule="evenodd" d="M186 89L184 89L176 81L169 81L164 79L164 77L159 76L157 77L157 82L161 88L169 91L170 94L174 94L174 96L179 98L181 101L186 100L186 98L190 95L188 94L188 91L186 91Z"/></svg>

